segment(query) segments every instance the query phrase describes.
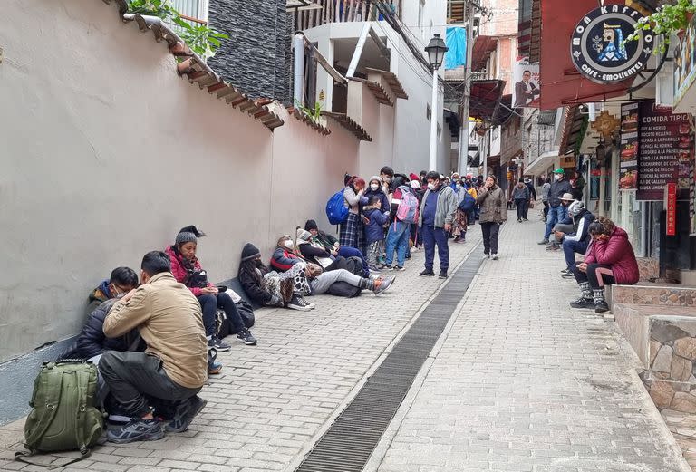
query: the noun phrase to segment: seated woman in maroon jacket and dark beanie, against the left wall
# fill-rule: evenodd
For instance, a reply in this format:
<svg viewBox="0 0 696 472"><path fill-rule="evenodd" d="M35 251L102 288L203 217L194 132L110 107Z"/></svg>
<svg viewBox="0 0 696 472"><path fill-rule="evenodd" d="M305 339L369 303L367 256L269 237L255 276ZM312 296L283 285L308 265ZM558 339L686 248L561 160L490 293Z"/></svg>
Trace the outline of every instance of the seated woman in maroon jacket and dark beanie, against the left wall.
<svg viewBox="0 0 696 472"><path fill-rule="evenodd" d="M198 237L206 236L198 231L196 226L181 228L173 246L165 249L171 261L171 273L177 282L185 284L198 298L198 303L203 311L203 324L206 328L208 347L218 351L229 351L230 345L218 338L217 313L218 307L225 311L227 321L231 326L231 332L237 334L237 340L247 345L255 345L256 338L245 327L244 320L237 311L237 306L232 298L225 292L208 282L208 275L204 271L198 258L196 249Z"/></svg>

